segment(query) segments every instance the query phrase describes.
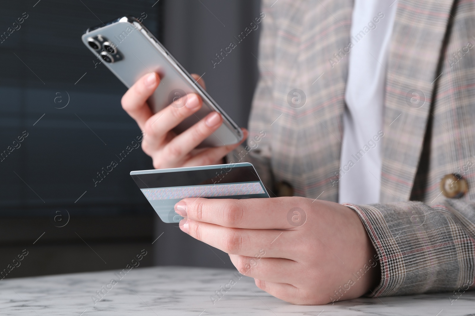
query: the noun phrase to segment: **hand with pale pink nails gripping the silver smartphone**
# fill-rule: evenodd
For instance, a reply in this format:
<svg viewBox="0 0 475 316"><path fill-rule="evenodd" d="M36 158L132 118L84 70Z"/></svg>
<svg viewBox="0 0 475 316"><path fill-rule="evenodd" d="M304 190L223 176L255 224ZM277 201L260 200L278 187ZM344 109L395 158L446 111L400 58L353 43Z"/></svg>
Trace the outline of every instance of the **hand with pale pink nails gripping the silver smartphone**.
<svg viewBox="0 0 475 316"><path fill-rule="evenodd" d="M204 81L192 74L195 80L205 88ZM153 114L147 99L160 84L157 73L149 73L139 79L122 97L123 109L137 122L144 131L142 150L152 157L155 169L193 167L223 163L223 157L243 143L247 130L242 129L244 137L238 144L213 148L196 149L203 140L215 132L223 123L218 112L209 113L204 119L177 135L172 129L186 117L201 108L200 97L191 93L187 96L184 107L169 105Z"/></svg>

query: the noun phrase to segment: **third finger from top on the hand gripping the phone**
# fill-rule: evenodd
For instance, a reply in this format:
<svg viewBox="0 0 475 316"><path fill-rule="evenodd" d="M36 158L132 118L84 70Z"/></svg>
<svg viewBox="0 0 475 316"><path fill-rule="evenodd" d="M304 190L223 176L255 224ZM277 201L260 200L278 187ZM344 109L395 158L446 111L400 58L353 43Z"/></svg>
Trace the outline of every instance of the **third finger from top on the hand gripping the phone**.
<svg viewBox="0 0 475 316"><path fill-rule="evenodd" d="M193 126L176 136L164 148L164 154L172 161L179 161L201 144L209 135L213 134L223 123L218 112L209 113Z"/></svg>

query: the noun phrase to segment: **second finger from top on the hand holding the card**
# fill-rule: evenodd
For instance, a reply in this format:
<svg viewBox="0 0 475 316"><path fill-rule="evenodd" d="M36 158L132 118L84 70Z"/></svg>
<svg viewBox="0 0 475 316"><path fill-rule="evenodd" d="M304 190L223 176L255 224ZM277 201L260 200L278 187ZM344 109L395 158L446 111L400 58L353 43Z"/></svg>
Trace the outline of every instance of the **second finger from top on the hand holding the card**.
<svg viewBox="0 0 475 316"><path fill-rule="evenodd" d="M291 260L302 256L299 247L288 246L294 243L296 231L228 228L192 219L182 222L185 233L225 253Z"/></svg>

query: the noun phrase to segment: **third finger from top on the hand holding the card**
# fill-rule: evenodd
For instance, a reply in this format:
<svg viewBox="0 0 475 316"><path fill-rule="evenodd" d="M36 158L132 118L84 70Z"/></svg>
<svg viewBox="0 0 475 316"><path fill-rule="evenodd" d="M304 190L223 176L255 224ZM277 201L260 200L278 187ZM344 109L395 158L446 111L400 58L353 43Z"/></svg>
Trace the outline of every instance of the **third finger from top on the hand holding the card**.
<svg viewBox="0 0 475 316"><path fill-rule="evenodd" d="M239 273L247 277L277 283L291 284L300 282L304 275L295 275L294 271L300 269L297 263L282 258L256 258L230 254L229 258Z"/></svg>

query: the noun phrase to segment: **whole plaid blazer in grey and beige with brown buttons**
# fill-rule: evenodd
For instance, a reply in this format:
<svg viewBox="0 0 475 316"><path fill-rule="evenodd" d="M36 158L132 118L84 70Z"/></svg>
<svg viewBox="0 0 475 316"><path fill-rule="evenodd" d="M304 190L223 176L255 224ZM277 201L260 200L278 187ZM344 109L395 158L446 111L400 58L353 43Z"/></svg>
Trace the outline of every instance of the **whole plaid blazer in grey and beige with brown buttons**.
<svg viewBox="0 0 475 316"><path fill-rule="evenodd" d="M384 137L378 143L380 204L348 205L379 253L381 282L372 292L473 288L475 2L399 0L394 5ZM338 201L335 173L352 7L352 0L263 1L260 80L248 147L229 154L228 161L253 163L271 191L285 181L294 195ZM293 89L304 91L301 108L289 105ZM420 95L418 108L408 103L414 91ZM446 199L440 180L461 169L468 192Z"/></svg>

